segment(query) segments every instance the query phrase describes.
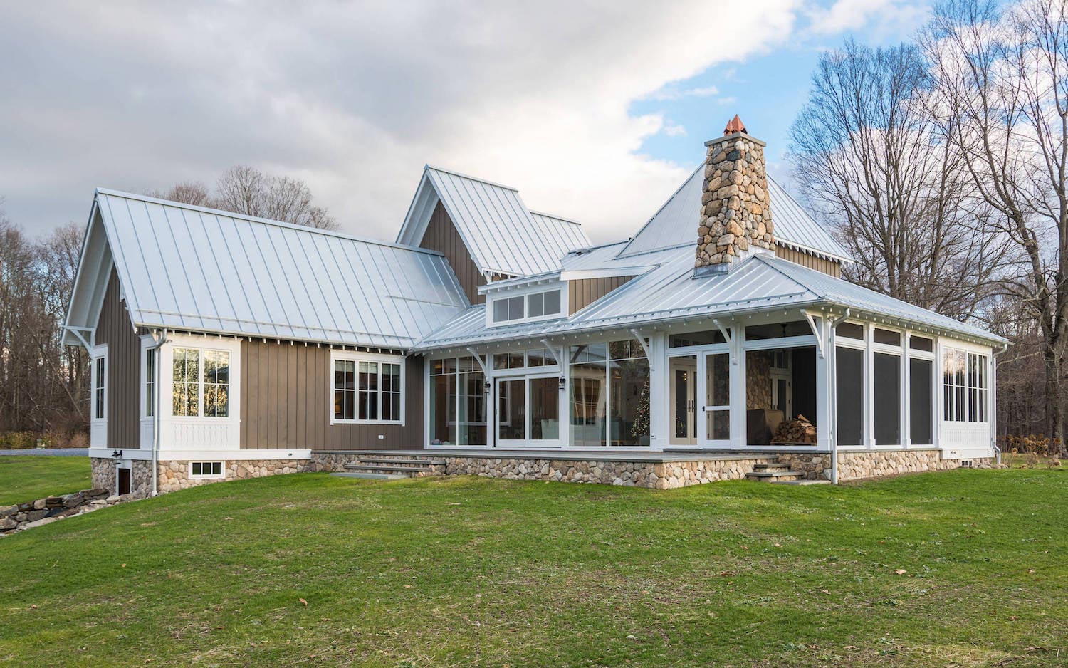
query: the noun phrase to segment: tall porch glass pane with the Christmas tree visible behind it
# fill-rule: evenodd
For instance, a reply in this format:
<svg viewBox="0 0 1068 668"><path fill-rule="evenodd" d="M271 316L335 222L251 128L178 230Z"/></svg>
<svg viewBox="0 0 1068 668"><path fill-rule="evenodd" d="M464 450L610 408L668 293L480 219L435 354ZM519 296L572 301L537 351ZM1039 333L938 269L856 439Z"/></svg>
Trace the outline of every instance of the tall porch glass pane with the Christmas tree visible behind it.
<svg viewBox="0 0 1068 668"><path fill-rule="evenodd" d="M609 344L609 445L649 445L649 360L637 340Z"/></svg>

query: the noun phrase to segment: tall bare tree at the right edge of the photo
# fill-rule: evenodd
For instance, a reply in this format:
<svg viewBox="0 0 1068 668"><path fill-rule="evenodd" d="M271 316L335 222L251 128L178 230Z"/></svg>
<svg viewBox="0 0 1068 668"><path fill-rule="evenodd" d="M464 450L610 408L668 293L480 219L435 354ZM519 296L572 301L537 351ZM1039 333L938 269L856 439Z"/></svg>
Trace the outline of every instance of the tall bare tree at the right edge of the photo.
<svg viewBox="0 0 1068 668"><path fill-rule="evenodd" d="M1068 7L952 0L921 43L931 62L932 116L1020 260L1006 280L1038 324L1045 422L1062 444L1068 330ZM1062 445L1062 455L1068 454Z"/></svg>

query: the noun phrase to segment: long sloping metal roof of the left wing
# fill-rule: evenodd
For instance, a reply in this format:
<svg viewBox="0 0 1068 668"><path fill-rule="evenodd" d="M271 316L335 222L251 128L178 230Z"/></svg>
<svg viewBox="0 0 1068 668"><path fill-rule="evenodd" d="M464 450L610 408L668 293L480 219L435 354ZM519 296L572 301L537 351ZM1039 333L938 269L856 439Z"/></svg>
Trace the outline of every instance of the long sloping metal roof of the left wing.
<svg viewBox="0 0 1068 668"><path fill-rule="evenodd" d="M468 306L434 251L104 189L97 215L138 326L408 348Z"/></svg>

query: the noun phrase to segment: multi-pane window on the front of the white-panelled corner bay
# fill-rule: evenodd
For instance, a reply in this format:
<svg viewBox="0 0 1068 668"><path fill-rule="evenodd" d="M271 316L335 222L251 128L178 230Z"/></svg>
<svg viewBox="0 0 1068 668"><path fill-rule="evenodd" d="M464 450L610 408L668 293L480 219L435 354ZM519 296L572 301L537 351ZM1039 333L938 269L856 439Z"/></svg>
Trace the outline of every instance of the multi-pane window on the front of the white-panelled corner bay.
<svg viewBox="0 0 1068 668"><path fill-rule="evenodd" d="M174 348L171 371L173 415L197 417L203 414L208 418L230 416L229 352Z"/></svg>

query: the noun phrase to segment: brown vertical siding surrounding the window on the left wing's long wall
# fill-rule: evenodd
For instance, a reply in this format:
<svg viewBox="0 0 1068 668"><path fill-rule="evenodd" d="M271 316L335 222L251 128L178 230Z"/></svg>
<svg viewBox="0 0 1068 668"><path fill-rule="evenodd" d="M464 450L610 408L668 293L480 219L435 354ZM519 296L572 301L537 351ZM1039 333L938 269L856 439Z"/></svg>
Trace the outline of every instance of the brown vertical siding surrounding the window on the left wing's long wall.
<svg viewBox="0 0 1068 668"><path fill-rule="evenodd" d="M405 423L330 424L330 348L241 342L241 448L405 450L423 447L423 358L405 359ZM379 439L379 434L384 438Z"/></svg>

